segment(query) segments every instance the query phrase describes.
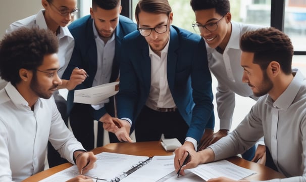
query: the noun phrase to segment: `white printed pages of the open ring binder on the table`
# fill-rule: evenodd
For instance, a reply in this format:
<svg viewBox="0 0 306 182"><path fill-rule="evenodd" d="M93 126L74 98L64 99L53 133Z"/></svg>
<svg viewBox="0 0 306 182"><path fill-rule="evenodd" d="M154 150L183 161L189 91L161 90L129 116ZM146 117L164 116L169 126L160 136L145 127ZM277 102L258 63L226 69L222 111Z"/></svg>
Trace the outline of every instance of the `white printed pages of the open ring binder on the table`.
<svg viewBox="0 0 306 182"><path fill-rule="evenodd" d="M109 152L97 154L96 157L96 168L91 169L85 175L91 176L92 178L97 177L106 179L106 181L115 181L113 180L115 177L125 173L126 171L149 158L146 156L134 156ZM120 181L157 181L175 170L173 165L173 158L173 155L154 156L149 163L143 165L139 169L135 170L135 172L129 174ZM79 175L79 172L76 165L74 165L40 181L66 181L77 175Z"/></svg>

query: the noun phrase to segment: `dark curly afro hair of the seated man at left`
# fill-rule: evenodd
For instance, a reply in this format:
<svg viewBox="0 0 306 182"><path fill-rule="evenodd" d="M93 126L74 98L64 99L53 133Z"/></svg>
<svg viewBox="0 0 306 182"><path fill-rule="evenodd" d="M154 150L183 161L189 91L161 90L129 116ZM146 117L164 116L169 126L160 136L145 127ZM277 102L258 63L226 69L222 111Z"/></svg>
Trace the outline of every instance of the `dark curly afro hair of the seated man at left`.
<svg viewBox="0 0 306 182"><path fill-rule="evenodd" d="M34 70L45 55L57 53L59 42L48 29L21 27L0 42L0 76L13 85L19 83L21 68Z"/></svg>

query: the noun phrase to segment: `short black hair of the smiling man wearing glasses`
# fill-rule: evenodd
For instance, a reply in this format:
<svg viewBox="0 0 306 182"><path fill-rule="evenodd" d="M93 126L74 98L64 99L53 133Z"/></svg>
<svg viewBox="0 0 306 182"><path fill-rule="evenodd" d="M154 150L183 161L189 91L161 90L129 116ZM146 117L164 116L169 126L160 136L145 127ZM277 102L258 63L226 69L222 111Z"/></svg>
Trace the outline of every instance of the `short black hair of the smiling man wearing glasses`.
<svg viewBox="0 0 306 182"><path fill-rule="evenodd" d="M193 11L215 8L216 12L221 16L229 13L231 7L229 0L191 0L190 6Z"/></svg>

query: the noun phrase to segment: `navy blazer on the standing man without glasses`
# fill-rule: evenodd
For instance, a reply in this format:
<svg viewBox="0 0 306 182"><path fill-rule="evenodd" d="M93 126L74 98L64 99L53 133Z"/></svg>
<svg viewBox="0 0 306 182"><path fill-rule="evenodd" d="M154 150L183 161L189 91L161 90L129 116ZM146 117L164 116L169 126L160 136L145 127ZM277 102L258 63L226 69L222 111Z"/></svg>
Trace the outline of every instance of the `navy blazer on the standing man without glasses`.
<svg viewBox="0 0 306 182"><path fill-rule="evenodd" d="M72 70L75 67L84 69L89 75L82 84L76 86L75 89L83 89L92 87L92 82L97 71L97 50L95 37L92 29L93 20L90 15L73 21L69 25L69 30L74 37L74 49L66 68L63 79L70 79ZM121 41L125 35L137 29L137 25L129 18L120 15L119 23L116 27L116 45L115 56L112 67L112 75L110 81L116 81L119 75ZM70 90L67 97L68 113L73 107L74 90ZM112 103L112 99L110 99ZM113 104L113 103L112 103ZM107 105L107 104L106 104ZM99 120L101 116L107 113L105 107L94 112L94 119Z"/></svg>

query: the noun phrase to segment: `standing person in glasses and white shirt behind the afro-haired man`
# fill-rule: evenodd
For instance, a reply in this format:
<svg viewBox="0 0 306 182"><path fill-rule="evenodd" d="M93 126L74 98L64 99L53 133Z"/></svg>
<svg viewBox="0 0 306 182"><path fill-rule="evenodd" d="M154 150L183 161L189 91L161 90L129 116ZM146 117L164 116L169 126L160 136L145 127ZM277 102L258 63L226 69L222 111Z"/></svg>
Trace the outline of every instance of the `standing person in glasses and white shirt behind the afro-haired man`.
<svg viewBox="0 0 306 182"><path fill-rule="evenodd" d="M57 36L59 40L59 62L60 69L58 75L61 78L72 55L74 47L74 38L67 28L67 25L77 15L77 1L76 0L41 0L44 9L41 9L36 15L18 20L10 25L6 33L10 33L20 27L38 27L49 29ZM70 76L70 80L62 79L62 85L59 88L73 89L76 85L82 83L86 78L86 72L83 69L75 68ZM1 80L2 82L3 80ZM5 86L4 84L3 86ZM3 87L0 87L2 89ZM55 92L53 94L57 107L62 115L66 125L68 123L66 100ZM60 157L59 153L48 144L48 163L49 167L53 167L67 160Z"/></svg>

